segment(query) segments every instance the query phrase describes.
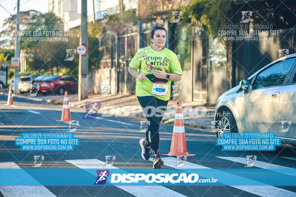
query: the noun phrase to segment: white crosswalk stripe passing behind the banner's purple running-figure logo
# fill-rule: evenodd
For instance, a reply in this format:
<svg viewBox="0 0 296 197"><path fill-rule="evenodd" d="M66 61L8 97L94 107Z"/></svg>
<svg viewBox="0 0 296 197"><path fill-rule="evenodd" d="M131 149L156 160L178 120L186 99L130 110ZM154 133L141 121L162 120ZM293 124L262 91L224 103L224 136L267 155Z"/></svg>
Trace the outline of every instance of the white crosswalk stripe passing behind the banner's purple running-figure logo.
<svg viewBox="0 0 296 197"><path fill-rule="evenodd" d="M103 165L105 162L102 162L97 159L90 159L90 160L65 160L75 166L83 169L83 168L104 168ZM113 169L118 169L115 166L108 167ZM122 173L128 173L127 171L122 169ZM97 174L95 174L97 176ZM95 181L95 180L94 180ZM174 190L170 190L166 187L156 185L155 186L116 186L136 197L151 197L153 191L157 191L157 196L159 197L186 197ZM153 195L152 195L153 196Z"/></svg>

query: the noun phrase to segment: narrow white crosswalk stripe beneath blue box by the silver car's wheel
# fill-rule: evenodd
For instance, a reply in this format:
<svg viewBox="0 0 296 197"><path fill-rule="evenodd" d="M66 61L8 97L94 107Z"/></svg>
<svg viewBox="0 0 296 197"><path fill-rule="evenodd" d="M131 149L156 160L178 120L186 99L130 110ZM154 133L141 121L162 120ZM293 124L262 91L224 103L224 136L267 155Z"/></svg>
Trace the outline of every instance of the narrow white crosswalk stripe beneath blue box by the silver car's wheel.
<svg viewBox="0 0 296 197"><path fill-rule="evenodd" d="M246 162L247 162L247 158L244 158L244 157L217 157L217 158L220 158L220 159L223 159L223 160L229 160L229 161L237 162L237 163L241 163L241 164L246 164ZM283 174L292 175L292 176L296 175L296 174L293 174L293 173L286 172L284 170L280 171L279 169L292 169L291 167L286 167L286 166L282 166L282 165L269 164L269 163L260 162L260 161L257 160L257 161L255 161L254 166L255 167L260 167L260 168L263 168L263 169L268 169L268 170L275 171L275 172L280 172L280 173L283 173Z"/></svg>

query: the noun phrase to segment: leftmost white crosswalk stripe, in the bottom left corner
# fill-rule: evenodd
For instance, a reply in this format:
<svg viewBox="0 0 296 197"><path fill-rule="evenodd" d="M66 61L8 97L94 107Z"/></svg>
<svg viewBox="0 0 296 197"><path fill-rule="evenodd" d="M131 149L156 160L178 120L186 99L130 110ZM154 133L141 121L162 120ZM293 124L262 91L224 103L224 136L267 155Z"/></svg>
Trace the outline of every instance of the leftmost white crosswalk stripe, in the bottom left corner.
<svg viewBox="0 0 296 197"><path fill-rule="evenodd" d="M21 169L14 162L0 163L0 168ZM32 182L40 186L0 186L0 192L4 197L56 197L47 188L42 186L37 180L30 176L25 170L22 170L21 181L24 183Z"/></svg>

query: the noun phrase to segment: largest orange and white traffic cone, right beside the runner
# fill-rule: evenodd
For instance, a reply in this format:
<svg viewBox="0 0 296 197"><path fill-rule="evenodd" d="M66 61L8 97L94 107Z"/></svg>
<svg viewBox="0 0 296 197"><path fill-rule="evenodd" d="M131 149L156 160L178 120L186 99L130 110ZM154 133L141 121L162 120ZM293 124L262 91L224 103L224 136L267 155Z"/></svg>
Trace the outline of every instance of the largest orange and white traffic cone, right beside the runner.
<svg viewBox="0 0 296 197"><path fill-rule="evenodd" d="M175 115L175 123L173 129L173 138L171 143L171 150L169 154L162 154L167 156L195 156L187 152L187 144L185 138L184 121L182 114L181 102L177 102L177 110Z"/></svg>

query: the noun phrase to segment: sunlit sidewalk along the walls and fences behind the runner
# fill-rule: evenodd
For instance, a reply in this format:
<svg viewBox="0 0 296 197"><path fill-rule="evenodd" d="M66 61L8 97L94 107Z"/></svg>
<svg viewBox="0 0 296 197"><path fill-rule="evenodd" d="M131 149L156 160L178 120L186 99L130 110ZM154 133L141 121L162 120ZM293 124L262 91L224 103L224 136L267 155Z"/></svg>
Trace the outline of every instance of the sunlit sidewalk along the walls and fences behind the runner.
<svg viewBox="0 0 296 197"><path fill-rule="evenodd" d="M0 95L8 96L8 92L2 92ZM48 102L53 104L63 104L64 95L46 95L42 96L38 94L37 97L28 97L28 94L15 95L13 97L27 99L37 102ZM78 101L77 94L69 94L69 106L85 108L84 102L101 102L101 108L98 113L123 115L130 117L137 117L146 120L143 115L143 110L139 104L139 101L135 95L128 94L116 94L108 95L108 97L100 97L99 95L89 95L88 99ZM178 100L170 100L167 110L161 121L161 123L174 123L175 112ZM127 107L129 110L124 110L121 107ZM184 117L184 125L193 127L196 129L210 130L214 120L215 105L206 105L205 102L198 101L184 101L182 102L182 111ZM108 110L107 110L108 109Z"/></svg>

